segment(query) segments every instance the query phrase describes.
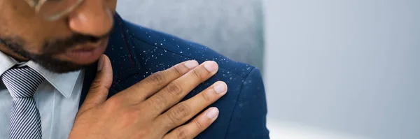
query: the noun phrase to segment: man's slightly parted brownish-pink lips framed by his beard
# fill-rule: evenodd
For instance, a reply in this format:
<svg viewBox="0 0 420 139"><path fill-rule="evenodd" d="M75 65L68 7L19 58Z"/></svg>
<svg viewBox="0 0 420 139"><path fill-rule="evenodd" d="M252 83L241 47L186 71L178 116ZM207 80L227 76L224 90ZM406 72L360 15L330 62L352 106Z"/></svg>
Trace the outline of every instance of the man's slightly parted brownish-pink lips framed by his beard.
<svg viewBox="0 0 420 139"><path fill-rule="evenodd" d="M100 41L94 45L81 45L76 47L76 49L68 50L64 54L69 58L69 61L76 64L92 64L104 53L106 43L107 41Z"/></svg>

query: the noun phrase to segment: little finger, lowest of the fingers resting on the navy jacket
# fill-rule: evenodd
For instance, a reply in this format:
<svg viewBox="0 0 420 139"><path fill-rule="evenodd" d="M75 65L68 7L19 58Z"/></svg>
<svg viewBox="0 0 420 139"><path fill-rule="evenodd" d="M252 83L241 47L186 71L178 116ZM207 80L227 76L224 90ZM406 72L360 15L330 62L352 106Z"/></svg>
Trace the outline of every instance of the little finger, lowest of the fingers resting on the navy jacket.
<svg viewBox="0 0 420 139"><path fill-rule="evenodd" d="M217 108L209 108L198 117L195 117L195 119L188 124L179 126L172 132L168 133L164 139L195 138L217 119L218 114L219 111Z"/></svg>

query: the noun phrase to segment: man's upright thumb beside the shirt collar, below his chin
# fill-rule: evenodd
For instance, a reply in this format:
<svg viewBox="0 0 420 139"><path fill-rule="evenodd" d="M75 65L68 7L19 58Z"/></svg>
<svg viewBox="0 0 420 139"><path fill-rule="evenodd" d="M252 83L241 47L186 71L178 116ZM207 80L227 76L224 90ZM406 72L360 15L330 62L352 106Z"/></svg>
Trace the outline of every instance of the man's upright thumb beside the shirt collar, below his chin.
<svg viewBox="0 0 420 139"><path fill-rule="evenodd" d="M111 61L109 57L103 54L98 61L97 76L92 82L92 85L90 85L90 90L78 113L82 113L106 101L109 88L112 84L112 78Z"/></svg>

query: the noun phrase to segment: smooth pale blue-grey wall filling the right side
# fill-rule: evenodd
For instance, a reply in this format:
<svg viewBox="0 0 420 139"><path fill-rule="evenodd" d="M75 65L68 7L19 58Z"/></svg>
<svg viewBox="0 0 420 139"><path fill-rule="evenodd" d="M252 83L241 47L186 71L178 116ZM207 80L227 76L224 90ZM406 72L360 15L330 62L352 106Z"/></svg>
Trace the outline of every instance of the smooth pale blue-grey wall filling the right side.
<svg viewBox="0 0 420 139"><path fill-rule="evenodd" d="M420 138L419 0L265 0L269 117Z"/></svg>

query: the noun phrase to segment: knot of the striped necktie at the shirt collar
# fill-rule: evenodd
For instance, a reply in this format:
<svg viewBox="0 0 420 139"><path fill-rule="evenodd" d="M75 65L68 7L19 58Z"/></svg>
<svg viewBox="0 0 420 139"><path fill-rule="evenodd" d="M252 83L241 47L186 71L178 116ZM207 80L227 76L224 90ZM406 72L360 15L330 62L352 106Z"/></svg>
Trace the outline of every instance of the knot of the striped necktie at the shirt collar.
<svg viewBox="0 0 420 139"><path fill-rule="evenodd" d="M44 78L34 69L25 67L9 69L1 75L1 80L13 98L29 98L34 96Z"/></svg>

